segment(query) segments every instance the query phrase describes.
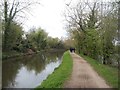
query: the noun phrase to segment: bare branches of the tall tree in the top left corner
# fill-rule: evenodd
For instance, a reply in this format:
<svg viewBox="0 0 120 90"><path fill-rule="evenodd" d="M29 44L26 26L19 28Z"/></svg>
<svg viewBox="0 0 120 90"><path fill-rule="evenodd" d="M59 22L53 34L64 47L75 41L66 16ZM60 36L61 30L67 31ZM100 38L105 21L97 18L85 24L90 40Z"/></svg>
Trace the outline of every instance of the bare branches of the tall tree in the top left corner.
<svg viewBox="0 0 120 90"><path fill-rule="evenodd" d="M0 5L4 5L5 3L4 0L1 2ZM9 21L12 21L12 20L15 20L16 16L19 16L17 14L21 14L23 11L24 11L24 14L27 12L28 9L30 9L33 5L36 5L36 4L40 4L39 2L37 1L30 1L30 0L11 0L11 1L8 1L6 0L6 4L7 4L7 18ZM2 6L1 6L2 7ZM3 11L5 11L5 8L2 8ZM30 10L28 10L29 13L30 13ZM23 15L24 15L23 14ZM5 17L5 16L4 16ZM21 17L18 17L18 18L21 18Z"/></svg>

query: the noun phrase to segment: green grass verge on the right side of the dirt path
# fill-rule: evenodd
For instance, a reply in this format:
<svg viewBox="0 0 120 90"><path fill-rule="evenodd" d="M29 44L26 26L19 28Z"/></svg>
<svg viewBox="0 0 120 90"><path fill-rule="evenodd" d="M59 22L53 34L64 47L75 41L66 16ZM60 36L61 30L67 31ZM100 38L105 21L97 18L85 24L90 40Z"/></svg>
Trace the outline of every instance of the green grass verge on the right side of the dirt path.
<svg viewBox="0 0 120 90"><path fill-rule="evenodd" d="M100 64L98 61L91 59L90 57L82 56L91 66L102 76L106 82L113 88L118 88L118 69L107 65Z"/></svg>

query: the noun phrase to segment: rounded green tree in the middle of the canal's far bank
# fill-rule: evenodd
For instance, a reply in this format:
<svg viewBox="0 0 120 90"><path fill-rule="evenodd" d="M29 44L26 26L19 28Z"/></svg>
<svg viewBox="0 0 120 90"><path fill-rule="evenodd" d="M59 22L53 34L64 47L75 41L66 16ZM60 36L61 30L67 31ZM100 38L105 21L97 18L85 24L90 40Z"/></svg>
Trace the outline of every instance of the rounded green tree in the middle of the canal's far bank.
<svg viewBox="0 0 120 90"><path fill-rule="evenodd" d="M47 46L47 33L41 29L33 29L27 34L27 40L31 44L29 48L36 48L39 51Z"/></svg>

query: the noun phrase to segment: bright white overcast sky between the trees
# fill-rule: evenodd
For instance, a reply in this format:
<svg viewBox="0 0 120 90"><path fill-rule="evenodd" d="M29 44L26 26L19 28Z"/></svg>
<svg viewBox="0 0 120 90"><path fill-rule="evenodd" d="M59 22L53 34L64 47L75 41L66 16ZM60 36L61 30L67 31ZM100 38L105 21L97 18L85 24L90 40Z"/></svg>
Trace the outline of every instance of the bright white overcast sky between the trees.
<svg viewBox="0 0 120 90"><path fill-rule="evenodd" d="M66 4L71 0L40 0L40 5L34 6L25 22L24 30L28 31L32 27L41 27L49 36L66 37L65 19L63 12ZM75 0L74 0L75 1Z"/></svg>

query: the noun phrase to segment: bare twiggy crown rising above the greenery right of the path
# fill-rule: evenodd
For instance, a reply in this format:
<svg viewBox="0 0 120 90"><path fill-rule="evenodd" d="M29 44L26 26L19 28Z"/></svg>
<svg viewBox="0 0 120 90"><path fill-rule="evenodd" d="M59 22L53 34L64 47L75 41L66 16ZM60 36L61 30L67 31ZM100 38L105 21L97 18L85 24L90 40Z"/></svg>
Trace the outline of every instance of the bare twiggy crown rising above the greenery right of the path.
<svg viewBox="0 0 120 90"><path fill-rule="evenodd" d="M97 2L79 2L75 7L67 5L66 21L70 28L76 29L78 32L86 32L88 27L97 28L97 10L99 5Z"/></svg>

